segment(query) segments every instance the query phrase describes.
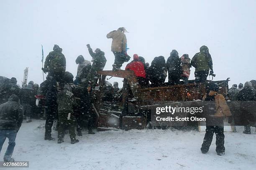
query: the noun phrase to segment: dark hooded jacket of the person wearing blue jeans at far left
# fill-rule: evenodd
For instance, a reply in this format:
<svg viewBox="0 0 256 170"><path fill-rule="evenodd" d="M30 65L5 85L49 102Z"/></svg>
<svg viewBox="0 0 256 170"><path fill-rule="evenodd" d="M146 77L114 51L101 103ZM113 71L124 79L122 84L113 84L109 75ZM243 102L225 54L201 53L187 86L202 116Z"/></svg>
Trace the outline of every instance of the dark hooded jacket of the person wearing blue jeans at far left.
<svg viewBox="0 0 256 170"><path fill-rule="evenodd" d="M23 120L23 107L19 97L11 95L8 102L0 105L0 130L19 130Z"/></svg>

